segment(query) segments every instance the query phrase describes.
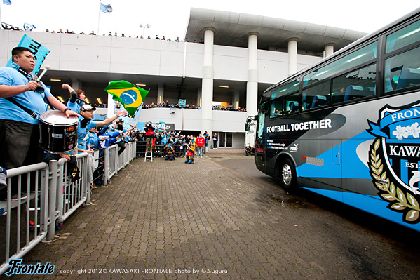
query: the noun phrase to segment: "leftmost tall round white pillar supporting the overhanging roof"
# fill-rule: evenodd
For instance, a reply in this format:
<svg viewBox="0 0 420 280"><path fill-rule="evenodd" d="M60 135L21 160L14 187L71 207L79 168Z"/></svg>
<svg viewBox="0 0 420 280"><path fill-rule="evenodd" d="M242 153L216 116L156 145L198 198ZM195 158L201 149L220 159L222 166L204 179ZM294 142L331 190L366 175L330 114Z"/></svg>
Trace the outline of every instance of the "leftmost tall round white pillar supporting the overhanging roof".
<svg viewBox="0 0 420 280"><path fill-rule="evenodd" d="M204 32L203 81L201 85L201 133L212 135L213 108L213 44L215 29L208 27Z"/></svg>

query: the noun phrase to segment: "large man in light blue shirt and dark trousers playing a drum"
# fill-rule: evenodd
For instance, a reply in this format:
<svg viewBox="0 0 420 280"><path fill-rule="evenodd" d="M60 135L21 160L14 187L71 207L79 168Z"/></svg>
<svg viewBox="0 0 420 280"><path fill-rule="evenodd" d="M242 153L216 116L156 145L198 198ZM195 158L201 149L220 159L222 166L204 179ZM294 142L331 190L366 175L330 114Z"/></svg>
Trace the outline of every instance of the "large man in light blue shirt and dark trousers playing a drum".
<svg viewBox="0 0 420 280"><path fill-rule="evenodd" d="M67 117L79 116L36 81L35 57L29 48L13 48L12 61L11 67L0 68L0 166L6 169L42 161L38 124L47 102ZM5 192L0 187L0 196Z"/></svg>

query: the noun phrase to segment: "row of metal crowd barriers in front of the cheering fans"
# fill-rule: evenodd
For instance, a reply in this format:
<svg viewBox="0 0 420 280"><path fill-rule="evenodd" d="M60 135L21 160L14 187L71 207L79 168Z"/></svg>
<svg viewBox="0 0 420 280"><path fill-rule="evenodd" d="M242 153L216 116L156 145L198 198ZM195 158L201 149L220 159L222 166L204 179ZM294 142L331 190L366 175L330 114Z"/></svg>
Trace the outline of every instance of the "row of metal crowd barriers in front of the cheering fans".
<svg viewBox="0 0 420 280"><path fill-rule="evenodd" d="M135 157L135 142L127 143L121 156L117 145L104 148L103 184ZM0 275L8 271L9 260L22 258L41 241L54 241L56 224L90 204L88 153L77 154L76 159L81 178L75 182L68 176L65 159L7 171L7 201L0 201ZM12 188L16 199L11 197Z"/></svg>

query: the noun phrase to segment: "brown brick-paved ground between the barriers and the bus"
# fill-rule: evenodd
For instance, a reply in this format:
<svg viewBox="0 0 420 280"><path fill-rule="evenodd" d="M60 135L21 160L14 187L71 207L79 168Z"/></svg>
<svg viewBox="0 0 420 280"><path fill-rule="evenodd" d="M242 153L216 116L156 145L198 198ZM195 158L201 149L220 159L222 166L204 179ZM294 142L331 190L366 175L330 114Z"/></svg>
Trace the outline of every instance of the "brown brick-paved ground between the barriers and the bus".
<svg viewBox="0 0 420 280"><path fill-rule="evenodd" d="M135 160L25 260L53 262L44 279L420 279L418 233L207 155Z"/></svg>

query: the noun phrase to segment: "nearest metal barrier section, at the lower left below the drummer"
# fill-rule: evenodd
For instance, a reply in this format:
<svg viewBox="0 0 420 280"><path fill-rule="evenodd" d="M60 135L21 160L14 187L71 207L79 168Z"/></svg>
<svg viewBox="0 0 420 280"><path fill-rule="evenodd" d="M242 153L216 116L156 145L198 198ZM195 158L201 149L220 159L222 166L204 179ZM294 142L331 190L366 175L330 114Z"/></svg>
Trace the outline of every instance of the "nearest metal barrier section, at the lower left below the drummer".
<svg viewBox="0 0 420 280"><path fill-rule="evenodd" d="M7 178L7 201L0 201L0 210L5 216L2 217L1 223L6 223L6 227L2 226L6 228L2 237L5 238L6 258L0 259L3 262L0 266L0 275L8 270L9 260L22 258L46 237L50 220L47 212L48 178L50 178L47 164L13 168L7 171ZM18 192L17 199L11 198L12 187ZM26 193L22 192L24 189Z"/></svg>

